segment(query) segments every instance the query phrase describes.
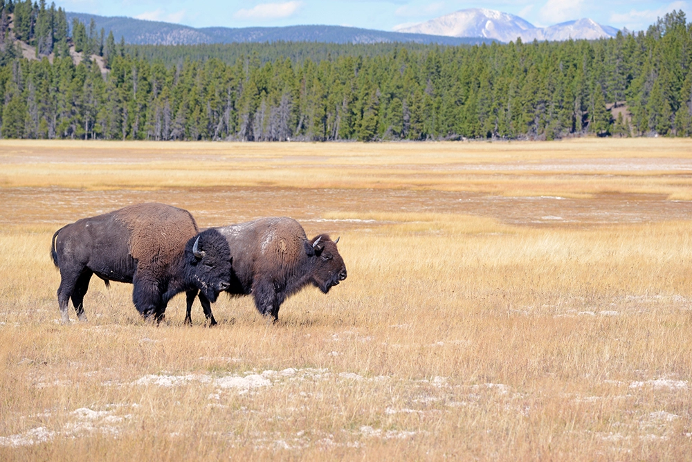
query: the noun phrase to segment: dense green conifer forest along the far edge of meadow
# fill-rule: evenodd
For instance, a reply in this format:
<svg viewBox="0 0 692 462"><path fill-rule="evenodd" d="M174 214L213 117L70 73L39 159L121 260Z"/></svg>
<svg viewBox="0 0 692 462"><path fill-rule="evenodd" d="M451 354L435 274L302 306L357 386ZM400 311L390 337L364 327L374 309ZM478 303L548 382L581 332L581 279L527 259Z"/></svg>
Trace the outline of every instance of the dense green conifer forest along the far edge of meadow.
<svg viewBox="0 0 692 462"><path fill-rule="evenodd" d="M20 5L28 8L30 1L14 5L15 30ZM32 8L35 32L21 37L39 53L40 37L50 37L37 32L39 15L55 8ZM60 9L52 35L60 49L55 44L64 37L55 34L55 17ZM138 47L116 44L112 33L104 39L103 31L77 21L69 43L82 50L78 65L62 51L51 55L52 62L45 56L24 59L7 40L2 43L2 138L370 141L692 134L692 26L682 11L665 15L646 32L596 41ZM224 50L236 55L222 59ZM263 57L268 51L276 57ZM102 56L107 72L89 55ZM618 111L613 118L609 109L623 104L630 117Z"/></svg>

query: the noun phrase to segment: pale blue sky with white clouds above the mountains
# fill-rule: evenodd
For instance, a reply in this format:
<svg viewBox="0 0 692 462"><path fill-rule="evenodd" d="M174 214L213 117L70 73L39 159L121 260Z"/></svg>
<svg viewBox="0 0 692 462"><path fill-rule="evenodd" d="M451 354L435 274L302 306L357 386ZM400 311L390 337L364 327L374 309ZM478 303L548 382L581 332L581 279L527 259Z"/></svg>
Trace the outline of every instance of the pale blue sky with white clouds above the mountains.
<svg viewBox="0 0 692 462"><path fill-rule="evenodd" d="M329 24L396 30L464 8L508 12L534 26L588 17L599 24L642 30L671 10L683 10L692 21L692 0L58 0L55 4L67 11L193 27Z"/></svg>

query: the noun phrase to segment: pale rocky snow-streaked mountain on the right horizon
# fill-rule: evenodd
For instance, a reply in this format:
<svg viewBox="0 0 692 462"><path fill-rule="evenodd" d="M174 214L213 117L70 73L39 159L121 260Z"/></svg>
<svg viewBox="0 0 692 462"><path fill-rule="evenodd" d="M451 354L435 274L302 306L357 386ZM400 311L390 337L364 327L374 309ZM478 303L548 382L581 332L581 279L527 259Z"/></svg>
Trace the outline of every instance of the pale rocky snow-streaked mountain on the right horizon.
<svg viewBox="0 0 692 462"><path fill-rule="evenodd" d="M547 28L538 28L529 21L509 13L470 8L401 28L399 32L448 37L485 37L499 41L516 41L517 37L521 37L522 41L532 41L614 37L617 29L601 26L591 19L567 21Z"/></svg>

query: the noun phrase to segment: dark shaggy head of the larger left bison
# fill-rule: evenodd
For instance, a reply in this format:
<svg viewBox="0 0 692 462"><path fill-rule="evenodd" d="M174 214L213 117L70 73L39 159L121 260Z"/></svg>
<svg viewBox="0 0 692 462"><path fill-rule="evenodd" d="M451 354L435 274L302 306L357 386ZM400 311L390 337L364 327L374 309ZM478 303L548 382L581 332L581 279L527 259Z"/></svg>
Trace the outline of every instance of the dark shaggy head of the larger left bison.
<svg viewBox="0 0 692 462"><path fill-rule="evenodd" d="M230 286L233 258L228 242L217 230L206 230L188 241L185 246L188 280L210 302Z"/></svg>

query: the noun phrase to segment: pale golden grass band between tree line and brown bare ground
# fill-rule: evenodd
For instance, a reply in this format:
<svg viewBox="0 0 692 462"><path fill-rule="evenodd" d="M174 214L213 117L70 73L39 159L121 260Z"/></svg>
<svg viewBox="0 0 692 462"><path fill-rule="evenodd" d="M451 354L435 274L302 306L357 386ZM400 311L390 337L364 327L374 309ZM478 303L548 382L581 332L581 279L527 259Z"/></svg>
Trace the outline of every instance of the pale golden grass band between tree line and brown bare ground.
<svg viewBox="0 0 692 462"><path fill-rule="evenodd" d="M48 148L48 146L50 146ZM0 185L156 189L166 187L374 187L502 195L603 191L692 198L689 178L657 163L692 161L688 140L569 140L474 143L155 143L0 140ZM16 162L15 160L21 159ZM635 164L594 160L650 160ZM558 165L552 162L558 160ZM521 168L517 168L521 163ZM547 163L547 165L546 165ZM586 165L584 165L586 164ZM560 168L563 167L563 168ZM585 177L594 168L602 175ZM663 175L662 173L667 173Z"/></svg>

